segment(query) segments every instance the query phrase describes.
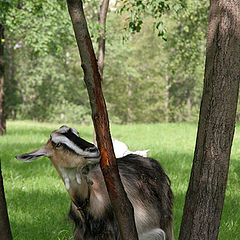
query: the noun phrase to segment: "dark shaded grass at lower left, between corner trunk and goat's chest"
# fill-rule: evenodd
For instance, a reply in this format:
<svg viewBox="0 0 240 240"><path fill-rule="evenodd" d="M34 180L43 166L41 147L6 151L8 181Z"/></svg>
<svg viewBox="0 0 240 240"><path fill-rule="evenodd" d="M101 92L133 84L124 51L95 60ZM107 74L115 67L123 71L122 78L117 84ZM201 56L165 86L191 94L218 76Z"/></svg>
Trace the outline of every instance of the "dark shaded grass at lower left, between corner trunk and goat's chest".
<svg viewBox="0 0 240 240"><path fill-rule="evenodd" d="M67 220L67 193L15 190L8 196L13 238L70 239L73 226Z"/></svg>

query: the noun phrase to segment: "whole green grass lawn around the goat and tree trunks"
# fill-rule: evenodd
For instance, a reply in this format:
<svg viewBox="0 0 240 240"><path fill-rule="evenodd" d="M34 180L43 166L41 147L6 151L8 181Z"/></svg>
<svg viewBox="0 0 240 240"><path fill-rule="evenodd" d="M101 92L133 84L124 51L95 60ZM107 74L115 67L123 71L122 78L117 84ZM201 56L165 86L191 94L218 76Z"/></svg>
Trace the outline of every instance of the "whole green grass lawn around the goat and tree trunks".
<svg viewBox="0 0 240 240"><path fill-rule="evenodd" d="M47 141L57 124L8 122L7 136L0 137L0 157L14 240L71 239L66 220L70 199L56 170L46 158L22 163L15 155L32 151ZM92 140L90 126L73 126ZM112 126L112 135L131 150L150 149L172 181L175 195L174 227L177 238L192 165L197 125L192 123ZM240 236L240 127L232 148L229 180L220 228L220 240Z"/></svg>

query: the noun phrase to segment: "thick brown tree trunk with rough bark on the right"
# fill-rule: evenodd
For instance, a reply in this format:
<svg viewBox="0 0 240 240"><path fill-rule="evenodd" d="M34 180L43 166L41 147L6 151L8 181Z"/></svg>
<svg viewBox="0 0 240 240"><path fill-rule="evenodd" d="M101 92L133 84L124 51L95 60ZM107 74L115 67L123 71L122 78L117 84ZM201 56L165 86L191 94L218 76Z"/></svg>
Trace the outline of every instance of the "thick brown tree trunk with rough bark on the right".
<svg viewBox="0 0 240 240"><path fill-rule="evenodd" d="M180 240L217 240L240 78L240 1L211 0L204 89Z"/></svg>

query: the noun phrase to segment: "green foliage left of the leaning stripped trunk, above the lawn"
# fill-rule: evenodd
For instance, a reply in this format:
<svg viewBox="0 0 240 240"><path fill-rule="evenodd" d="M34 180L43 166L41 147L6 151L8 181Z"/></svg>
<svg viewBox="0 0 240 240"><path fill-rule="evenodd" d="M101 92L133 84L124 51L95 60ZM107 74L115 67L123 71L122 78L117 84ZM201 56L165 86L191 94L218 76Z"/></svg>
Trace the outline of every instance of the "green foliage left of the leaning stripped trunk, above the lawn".
<svg viewBox="0 0 240 240"><path fill-rule="evenodd" d="M8 117L89 121L87 93L79 80L83 74L65 2L22 1L9 11L6 26Z"/></svg>

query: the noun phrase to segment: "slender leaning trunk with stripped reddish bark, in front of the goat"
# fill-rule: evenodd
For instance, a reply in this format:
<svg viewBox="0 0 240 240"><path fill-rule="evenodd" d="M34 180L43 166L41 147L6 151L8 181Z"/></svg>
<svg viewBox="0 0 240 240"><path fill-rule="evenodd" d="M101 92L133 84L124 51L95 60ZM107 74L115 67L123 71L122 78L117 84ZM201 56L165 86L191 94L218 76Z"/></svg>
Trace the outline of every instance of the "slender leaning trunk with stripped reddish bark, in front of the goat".
<svg viewBox="0 0 240 240"><path fill-rule="evenodd" d="M102 92L101 76L89 36L82 1L67 0L67 4L82 61L84 81L92 108L92 119L96 131L98 148L101 152L100 165L112 208L118 221L121 239L138 239L133 207L121 183L113 151L108 114Z"/></svg>

